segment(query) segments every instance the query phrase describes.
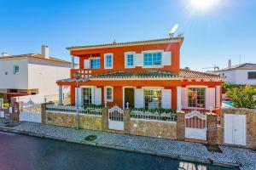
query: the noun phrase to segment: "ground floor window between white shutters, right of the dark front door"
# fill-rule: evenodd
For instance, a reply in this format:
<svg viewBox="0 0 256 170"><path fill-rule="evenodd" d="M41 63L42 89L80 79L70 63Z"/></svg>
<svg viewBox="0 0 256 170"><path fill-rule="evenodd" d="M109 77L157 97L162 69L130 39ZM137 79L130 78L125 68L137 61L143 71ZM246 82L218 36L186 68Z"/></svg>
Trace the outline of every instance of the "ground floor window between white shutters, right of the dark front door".
<svg viewBox="0 0 256 170"><path fill-rule="evenodd" d="M146 109L161 108L162 91L160 89L144 89L144 107Z"/></svg>

